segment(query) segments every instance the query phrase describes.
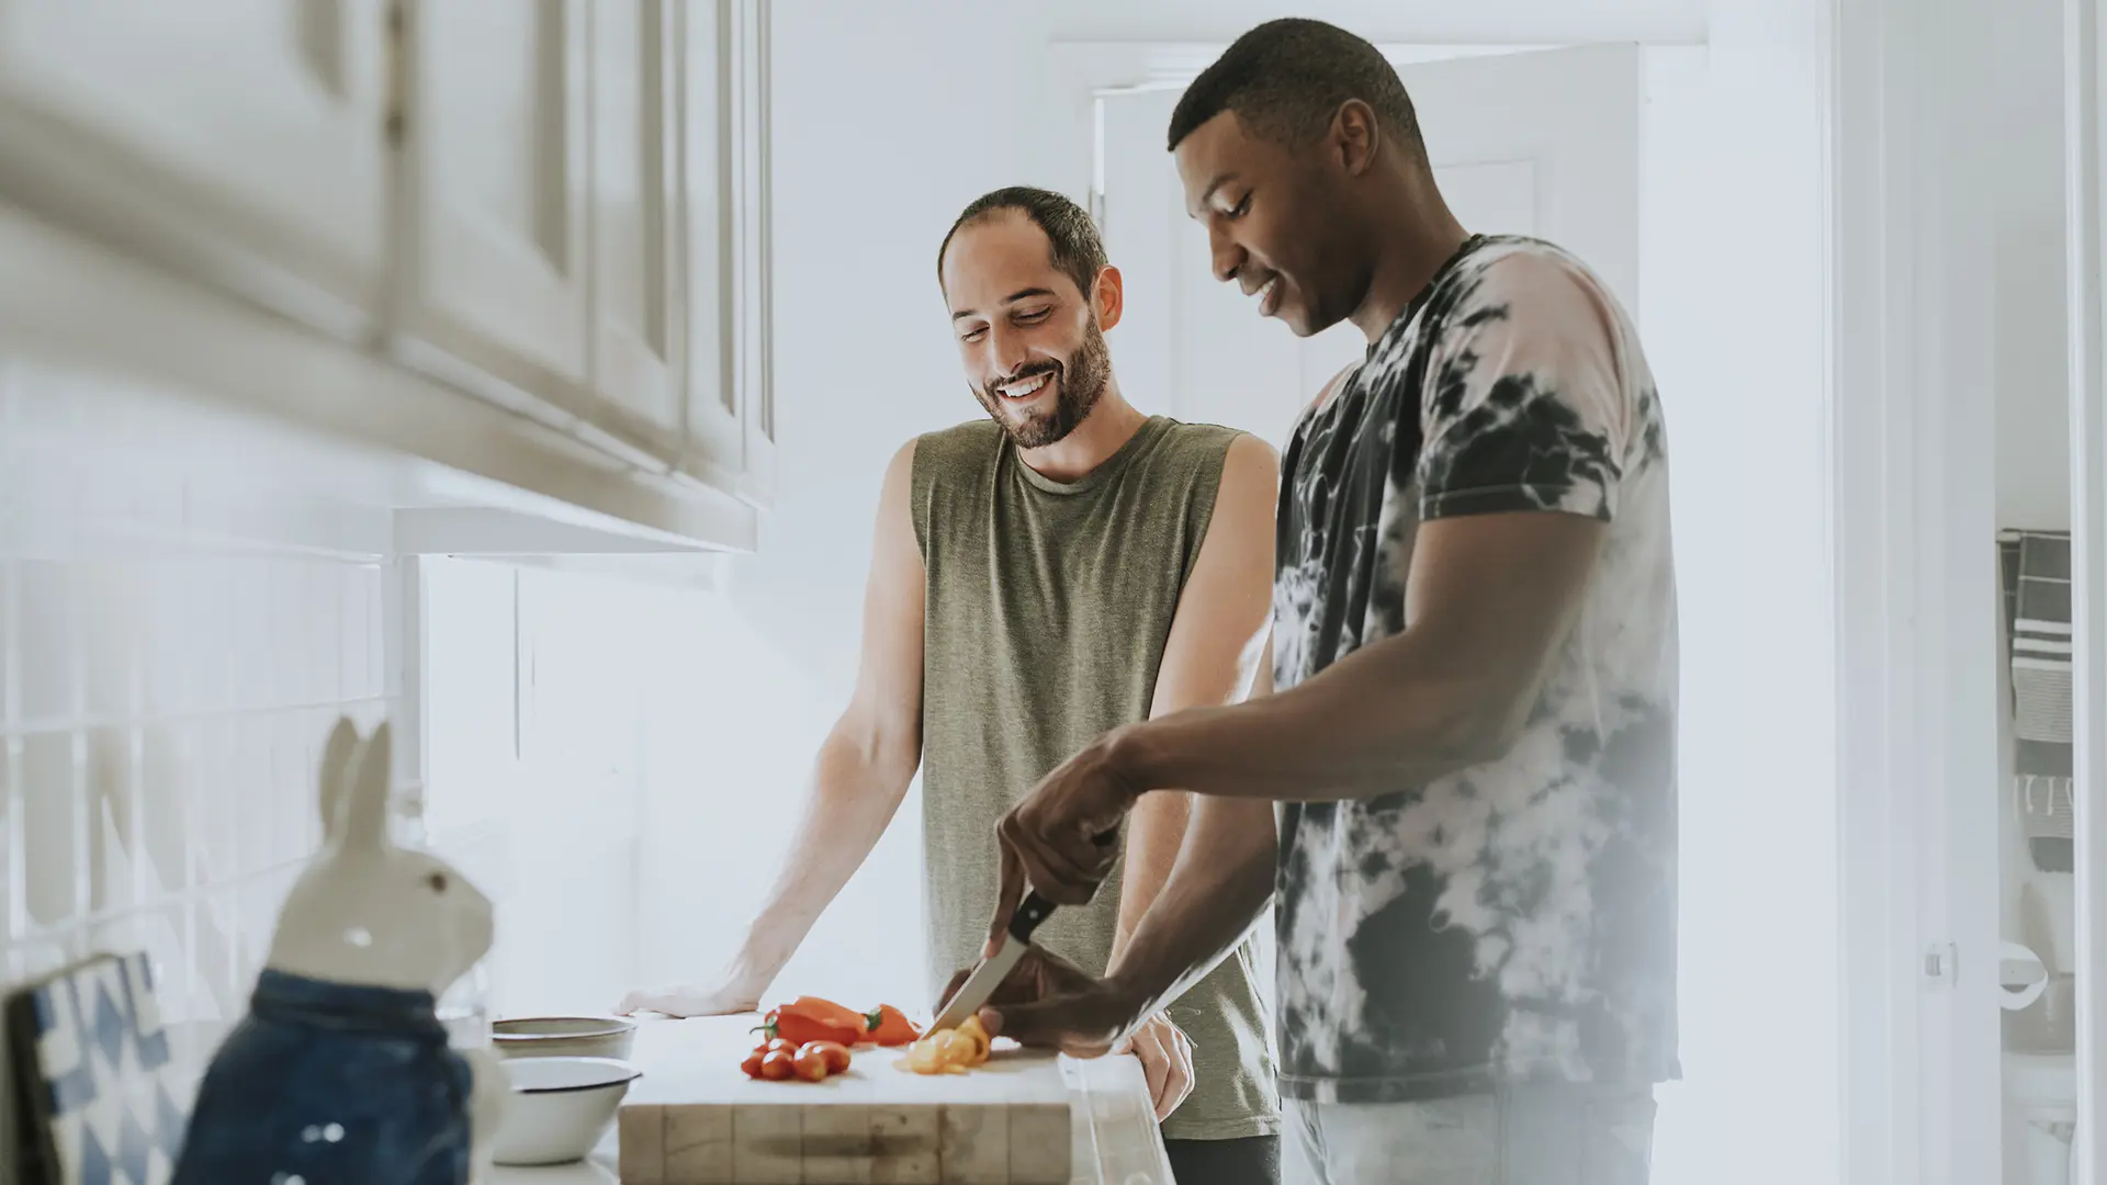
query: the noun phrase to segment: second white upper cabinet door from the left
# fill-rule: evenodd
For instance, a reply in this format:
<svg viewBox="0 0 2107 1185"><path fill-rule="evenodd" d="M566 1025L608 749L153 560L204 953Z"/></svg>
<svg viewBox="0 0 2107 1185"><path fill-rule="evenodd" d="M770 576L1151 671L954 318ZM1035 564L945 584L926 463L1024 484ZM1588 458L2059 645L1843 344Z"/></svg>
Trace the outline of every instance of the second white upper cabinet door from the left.
<svg viewBox="0 0 2107 1185"><path fill-rule="evenodd" d="M586 0L424 0L405 46L405 335L577 411L590 308Z"/></svg>

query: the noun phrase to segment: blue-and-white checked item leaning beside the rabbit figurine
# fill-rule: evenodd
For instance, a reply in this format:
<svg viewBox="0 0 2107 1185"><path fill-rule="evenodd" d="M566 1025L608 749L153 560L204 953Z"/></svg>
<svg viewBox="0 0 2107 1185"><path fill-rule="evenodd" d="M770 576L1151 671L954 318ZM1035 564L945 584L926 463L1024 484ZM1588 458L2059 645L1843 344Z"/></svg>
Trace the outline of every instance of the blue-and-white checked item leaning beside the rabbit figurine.
<svg viewBox="0 0 2107 1185"><path fill-rule="evenodd" d="M29 1056L25 1177L166 1185L185 1115L147 957L99 955L29 987L11 1012Z"/></svg>

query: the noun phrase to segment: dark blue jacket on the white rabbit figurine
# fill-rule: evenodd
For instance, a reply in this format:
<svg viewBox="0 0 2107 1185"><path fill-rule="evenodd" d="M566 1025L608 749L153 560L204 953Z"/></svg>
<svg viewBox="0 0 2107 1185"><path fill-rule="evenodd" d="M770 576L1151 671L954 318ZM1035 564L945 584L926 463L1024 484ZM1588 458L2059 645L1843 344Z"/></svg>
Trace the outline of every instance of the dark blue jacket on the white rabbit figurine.
<svg viewBox="0 0 2107 1185"><path fill-rule="evenodd" d="M265 970L198 1088L175 1185L466 1185L470 1092L430 993Z"/></svg>

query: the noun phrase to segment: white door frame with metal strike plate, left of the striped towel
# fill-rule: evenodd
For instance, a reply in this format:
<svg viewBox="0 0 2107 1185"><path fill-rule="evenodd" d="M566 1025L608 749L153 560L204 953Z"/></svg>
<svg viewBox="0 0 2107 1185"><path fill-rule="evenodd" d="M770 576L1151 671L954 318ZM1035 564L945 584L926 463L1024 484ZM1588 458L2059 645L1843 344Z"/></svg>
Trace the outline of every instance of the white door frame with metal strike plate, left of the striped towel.
<svg viewBox="0 0 2107 1185"><path fill-rule="evenodd" d="M1997 1181L1989 19L1837 4L1831 426L1846 1179ZM1997 791L1997 793L1993 793ZM1985 1122L1989 1118L1989 1122Z"/></svg>

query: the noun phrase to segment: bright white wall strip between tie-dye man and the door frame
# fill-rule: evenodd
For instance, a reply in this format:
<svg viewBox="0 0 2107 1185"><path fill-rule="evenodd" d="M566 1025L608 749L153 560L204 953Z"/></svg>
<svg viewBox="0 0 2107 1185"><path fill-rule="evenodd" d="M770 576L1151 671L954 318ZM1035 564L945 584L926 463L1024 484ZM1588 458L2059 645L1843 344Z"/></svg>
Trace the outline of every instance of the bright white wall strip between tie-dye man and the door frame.
<svg viewBox="0 0 2107 1185"><path fill-rule="evenodd" d="M1681 1052L1662 1185L1835 1181L1818 4L1648 55L1639 318L1681 597Z"/></svg>

